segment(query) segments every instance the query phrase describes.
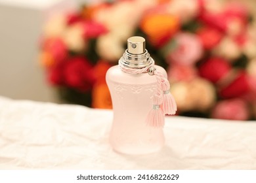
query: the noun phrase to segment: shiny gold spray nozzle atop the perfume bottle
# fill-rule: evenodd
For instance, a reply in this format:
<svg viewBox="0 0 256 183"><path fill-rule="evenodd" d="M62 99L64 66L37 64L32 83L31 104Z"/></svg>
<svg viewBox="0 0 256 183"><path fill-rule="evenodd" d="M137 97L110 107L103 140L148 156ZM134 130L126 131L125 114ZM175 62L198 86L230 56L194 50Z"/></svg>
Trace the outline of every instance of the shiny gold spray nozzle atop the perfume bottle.
<svg viewBox="0 0 256 183"><path fill-rule="evenodd" d="M130 54L143 54L145 52L145 39L143 37L134 36L127 39L127 51Z"/></svg>

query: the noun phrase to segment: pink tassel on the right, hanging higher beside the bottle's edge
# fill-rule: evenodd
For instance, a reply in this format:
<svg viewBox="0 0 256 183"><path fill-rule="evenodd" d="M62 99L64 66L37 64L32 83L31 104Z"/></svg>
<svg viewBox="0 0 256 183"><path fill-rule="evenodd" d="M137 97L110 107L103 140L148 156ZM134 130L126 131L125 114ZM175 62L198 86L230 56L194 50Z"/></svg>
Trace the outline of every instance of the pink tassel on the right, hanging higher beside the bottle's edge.
<svg viewBox="0 0 256 183"><path fill-rule="evenodd" d="M175 102L175 99L173 95L170 93L170 84L168 80L165 80L165 82L162 83L162 89L163 89L163 112L164 114L175 114L177 111L177 104Z"/></svg>

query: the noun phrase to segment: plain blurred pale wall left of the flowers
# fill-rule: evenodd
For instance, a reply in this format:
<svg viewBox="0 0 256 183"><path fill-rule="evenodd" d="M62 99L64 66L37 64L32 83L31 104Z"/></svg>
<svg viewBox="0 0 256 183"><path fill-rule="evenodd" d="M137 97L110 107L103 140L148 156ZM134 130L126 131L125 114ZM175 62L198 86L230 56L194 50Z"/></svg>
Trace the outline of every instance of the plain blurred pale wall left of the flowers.
<svg viewBox="0 0 256 183"><path fill-rule="evenodd" d="M47 15L74 7L75 3L42 2L0 0L0 95L56 101L37 59L39 35Z"/></svg>

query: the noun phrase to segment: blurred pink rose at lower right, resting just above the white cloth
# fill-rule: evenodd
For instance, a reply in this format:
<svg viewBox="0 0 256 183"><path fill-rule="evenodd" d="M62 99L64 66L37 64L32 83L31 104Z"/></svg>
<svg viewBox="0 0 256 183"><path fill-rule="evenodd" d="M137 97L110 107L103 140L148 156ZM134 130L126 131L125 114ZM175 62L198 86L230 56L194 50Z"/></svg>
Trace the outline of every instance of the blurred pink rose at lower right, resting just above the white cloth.
<svg viewBox="0 0 256 183"><path fill-rule="evenodd" d="M224 120L248 120L249 109L242 99L230 99L217 103L212 117Z"/></svg>

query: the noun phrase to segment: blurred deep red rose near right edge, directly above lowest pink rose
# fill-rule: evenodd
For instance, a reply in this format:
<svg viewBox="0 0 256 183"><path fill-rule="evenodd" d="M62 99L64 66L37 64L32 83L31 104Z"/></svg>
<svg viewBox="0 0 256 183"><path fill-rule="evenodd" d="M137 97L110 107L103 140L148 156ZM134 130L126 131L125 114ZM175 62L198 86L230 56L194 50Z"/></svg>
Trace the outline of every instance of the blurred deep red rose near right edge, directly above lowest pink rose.
<svg viewBox="0 0 256 183"><path fill-rule="evenodd" d="M236 78L223 88L220 92L223 98L242 97L251 91L251 84L249 83L249 76L242 71L238 73Z"/></svg>

